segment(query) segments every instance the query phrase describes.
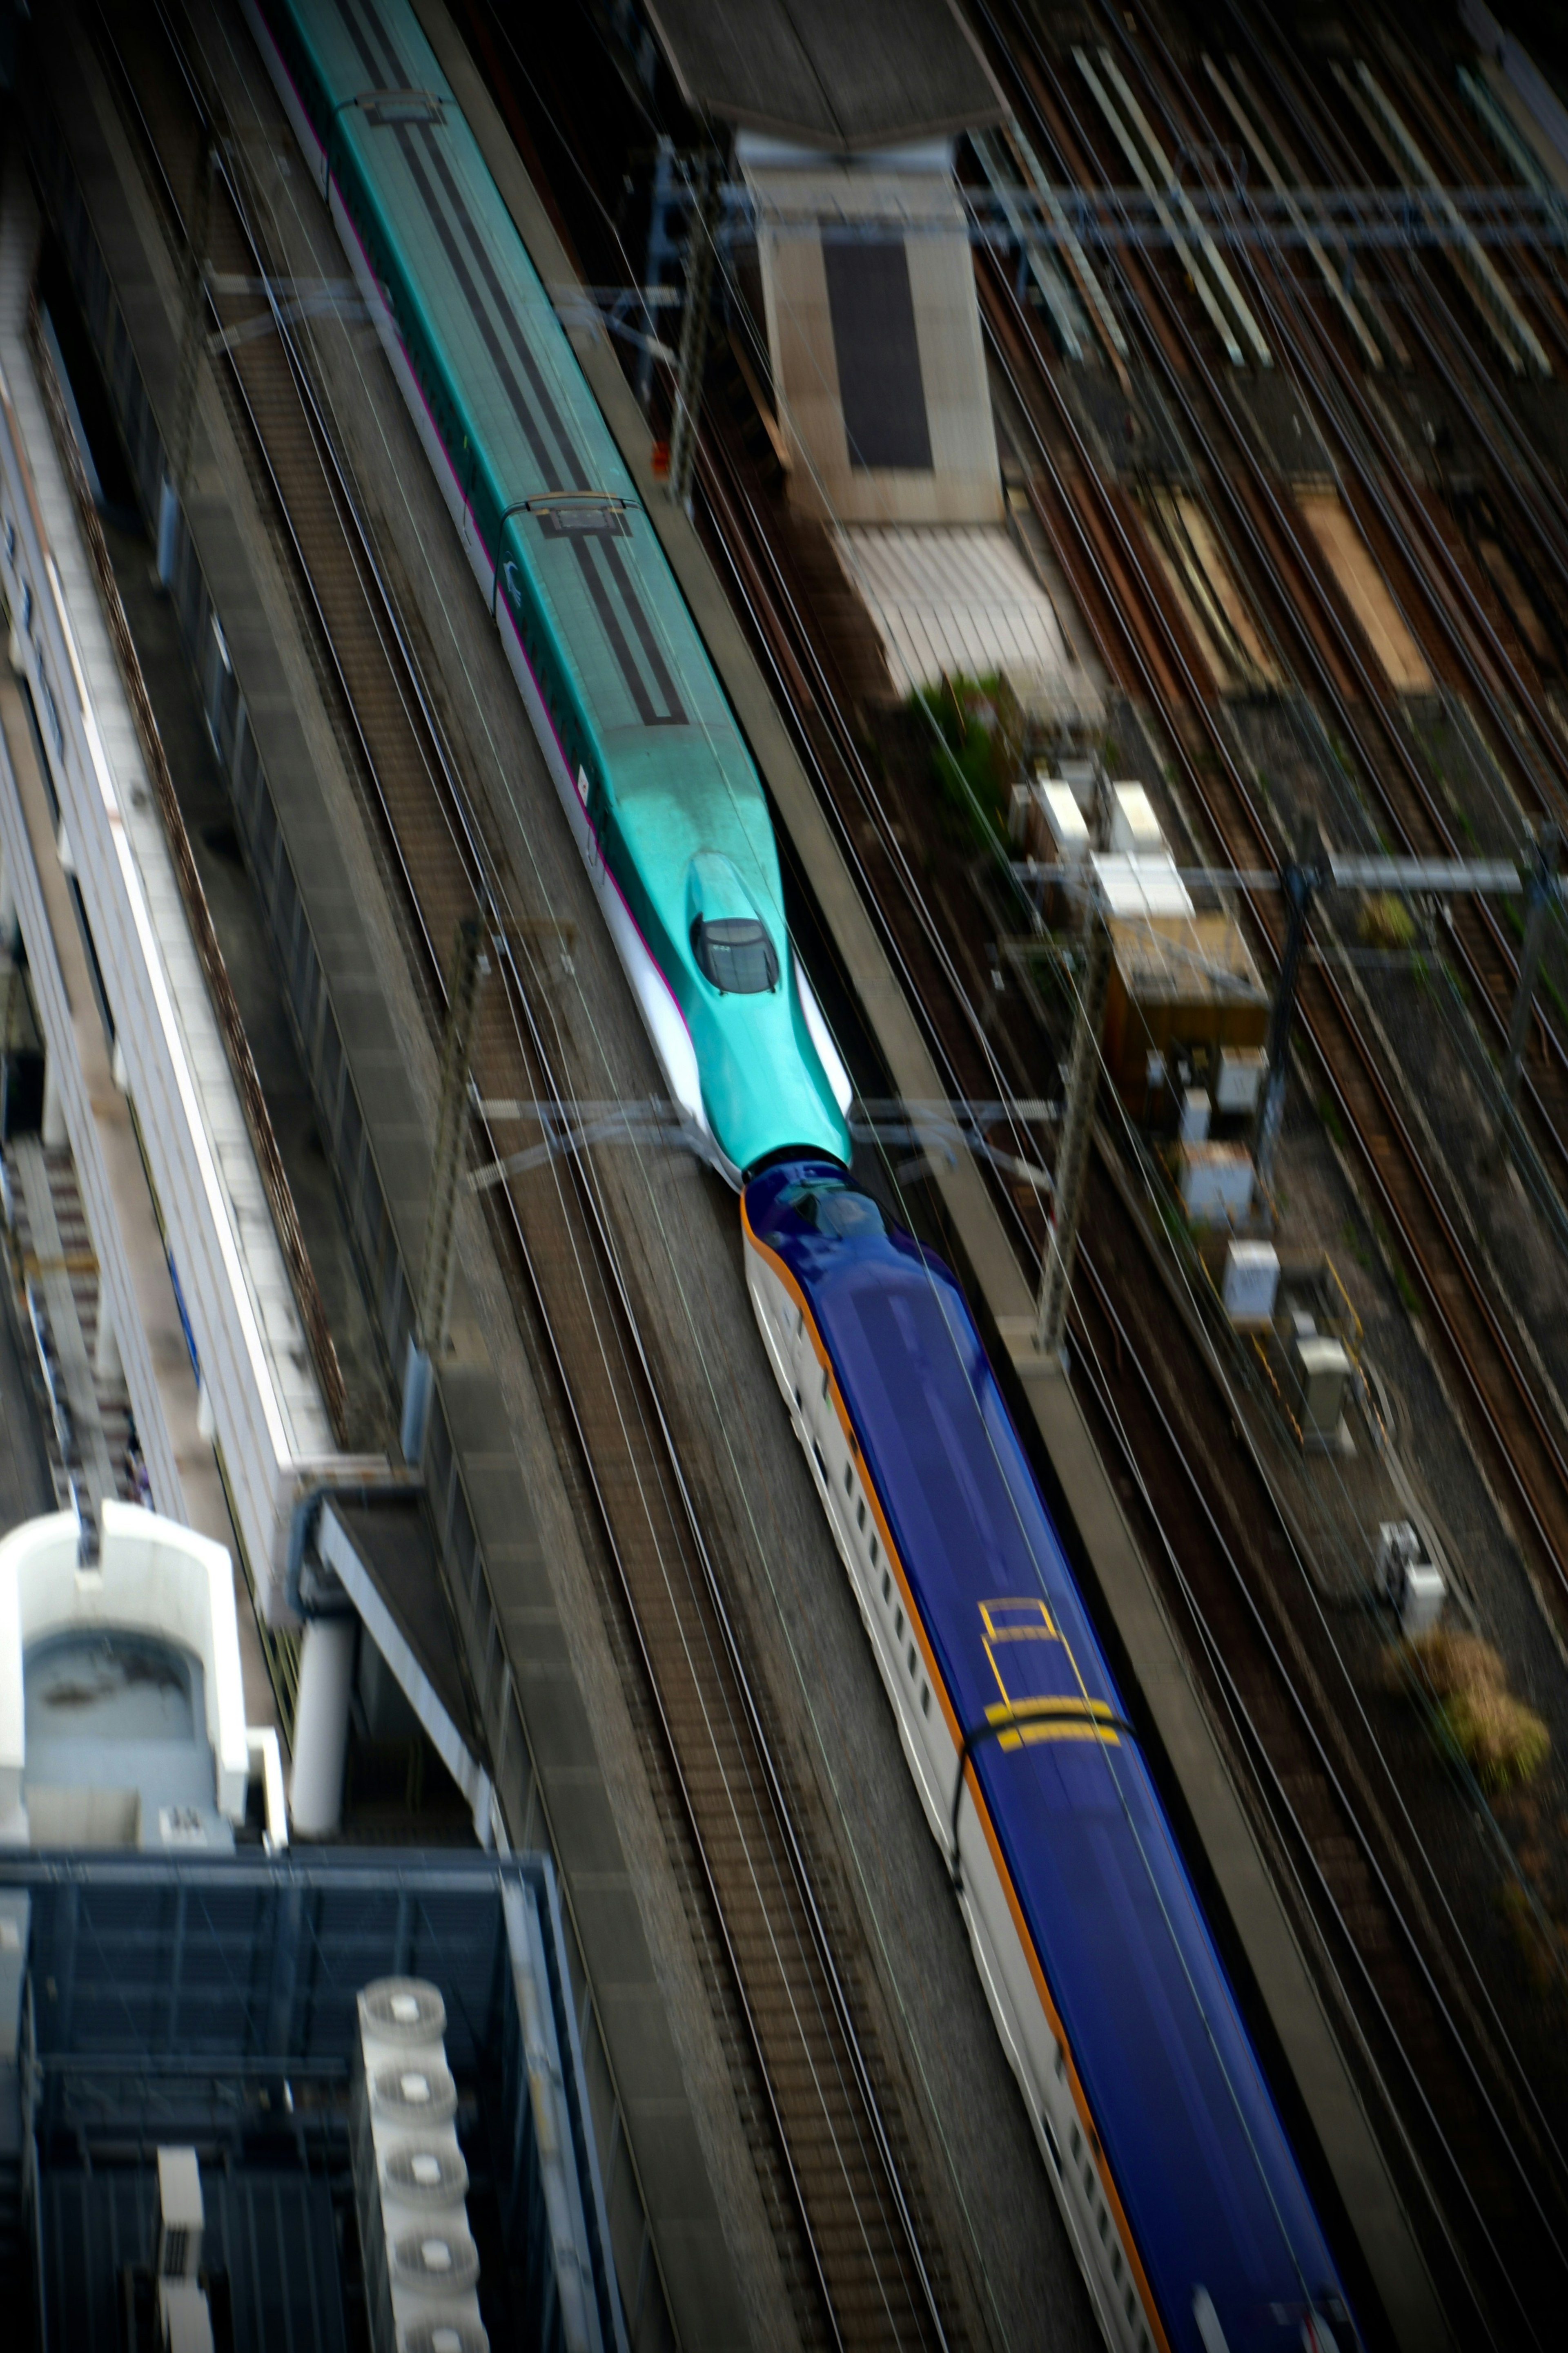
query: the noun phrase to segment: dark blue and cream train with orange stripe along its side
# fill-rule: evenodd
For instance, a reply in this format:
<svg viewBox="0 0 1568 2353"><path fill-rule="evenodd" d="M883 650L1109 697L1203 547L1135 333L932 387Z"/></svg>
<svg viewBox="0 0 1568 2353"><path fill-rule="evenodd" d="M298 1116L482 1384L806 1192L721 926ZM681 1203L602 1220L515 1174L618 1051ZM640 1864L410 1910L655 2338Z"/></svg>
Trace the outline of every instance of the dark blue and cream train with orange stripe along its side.
<svg viewBox="0 0 1568 2353"><path fill-rule="evenodd" d="M825 1160L741 1217L1105 2337L1328 2353L1333 2257L959 1285Z"/></svg>

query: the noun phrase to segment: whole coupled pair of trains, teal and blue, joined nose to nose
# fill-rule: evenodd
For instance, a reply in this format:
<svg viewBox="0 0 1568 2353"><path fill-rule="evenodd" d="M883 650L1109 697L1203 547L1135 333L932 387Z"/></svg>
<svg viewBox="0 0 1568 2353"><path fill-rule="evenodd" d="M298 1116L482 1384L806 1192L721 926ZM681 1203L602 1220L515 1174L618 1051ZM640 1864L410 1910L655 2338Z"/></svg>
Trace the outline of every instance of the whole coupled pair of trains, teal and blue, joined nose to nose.
<svg viewBox="0 0 1568 2353"><path fill-rule="evenodd" d="M752 1306L1100 2325L1354 2339L1060 1544L945 1266L846 1179L750 755L407 0L242 0L494 616Z"/></svg>

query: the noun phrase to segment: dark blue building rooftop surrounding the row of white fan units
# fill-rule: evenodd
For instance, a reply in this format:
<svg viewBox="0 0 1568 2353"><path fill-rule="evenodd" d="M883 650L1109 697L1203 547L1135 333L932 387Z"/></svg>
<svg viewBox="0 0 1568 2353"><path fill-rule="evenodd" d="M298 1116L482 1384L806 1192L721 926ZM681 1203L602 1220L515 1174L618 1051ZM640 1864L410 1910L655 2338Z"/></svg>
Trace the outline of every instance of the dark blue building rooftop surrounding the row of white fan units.
<svg viewBox="0 0 1568 2353"><path fill-rule="evenodd" d="M195 2153L214 2344L364 2341L357 1998L393 1977L444 2005L489 2344L625 2346L538 1857L7 1857L0 1929L0 2106L35 2151L0 2287L19 2311L31 2285L47 2344L108 2353L127 2320L148 2329L160 2148L165 2172Z"/></svg>

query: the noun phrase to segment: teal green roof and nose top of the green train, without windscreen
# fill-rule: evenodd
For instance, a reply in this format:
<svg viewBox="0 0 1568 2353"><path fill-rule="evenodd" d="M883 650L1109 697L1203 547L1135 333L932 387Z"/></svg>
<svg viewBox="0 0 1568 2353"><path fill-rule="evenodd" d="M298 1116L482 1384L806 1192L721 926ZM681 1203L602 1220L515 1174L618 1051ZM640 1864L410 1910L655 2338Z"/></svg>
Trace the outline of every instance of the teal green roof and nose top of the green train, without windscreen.
<svg viewBox="0 0 1568 2353"><path fill-rule="evenodd" d="M306 61L296 96L362 249L390 280L407 358L536 675L522 576L548 635L550 722L588 774L609 864L675 988L712 1132L736 1167L780 1144L844 1151L842 1113L792 986L778 847L750 751L658 534L480 146L407 0L263 0ZM294 71L294 66L289 66ZM353 172L346 167L353 160ZM367 219L364 214L371 214ZM435 362L435 365L430 365ZM456 402L456 416L451 414ZM602 793L597 802L592 793ZM766 927L778 986L726 993L691 953L698 868L726 861ZM628 901L630 904L630 901ZM764 1075L766 1073L766 1075Z"/></svg>

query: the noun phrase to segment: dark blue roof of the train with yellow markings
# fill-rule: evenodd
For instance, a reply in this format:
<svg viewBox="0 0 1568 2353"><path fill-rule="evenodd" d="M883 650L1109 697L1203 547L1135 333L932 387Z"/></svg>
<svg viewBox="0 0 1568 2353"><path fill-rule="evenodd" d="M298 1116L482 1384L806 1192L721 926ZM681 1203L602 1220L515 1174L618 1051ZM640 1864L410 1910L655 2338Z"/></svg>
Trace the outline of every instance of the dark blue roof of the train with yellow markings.
<svg viewBox="0 0 1568 2353"><path fill-rule="evenodd" d="M745 1212L832 1358L964 1729L1058 1694L1119 1720L952 1273L827 1165L769 1169ZM1034 1638L1030 1600L1060 1640ZM1107 1734L992 1737L973 1762L1173 2344L1197 2344L1204 2285L1232 2353L1284 2353L1302 2282L1319 2308L1340 2301L1333 2259L1147 1767L1126 1729Z"/></svg>

